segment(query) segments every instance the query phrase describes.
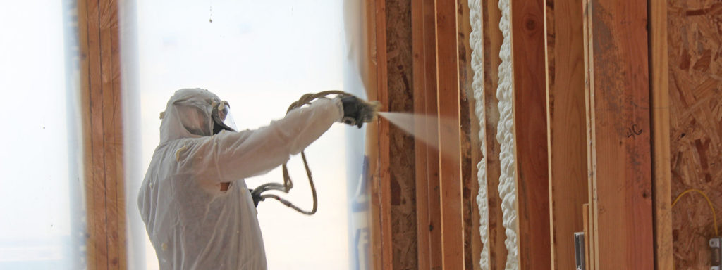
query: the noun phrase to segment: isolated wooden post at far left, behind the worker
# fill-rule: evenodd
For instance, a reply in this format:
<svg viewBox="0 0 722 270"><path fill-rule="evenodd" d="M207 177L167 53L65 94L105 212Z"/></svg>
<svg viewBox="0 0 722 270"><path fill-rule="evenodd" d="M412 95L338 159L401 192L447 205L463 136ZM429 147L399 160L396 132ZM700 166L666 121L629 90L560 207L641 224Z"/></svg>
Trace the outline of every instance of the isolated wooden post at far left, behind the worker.
<svg viewBox="0 0 722 270"><path fill-rule="evenodd" d="M118 4L78 1L88 269L126 269Z"/></svg>

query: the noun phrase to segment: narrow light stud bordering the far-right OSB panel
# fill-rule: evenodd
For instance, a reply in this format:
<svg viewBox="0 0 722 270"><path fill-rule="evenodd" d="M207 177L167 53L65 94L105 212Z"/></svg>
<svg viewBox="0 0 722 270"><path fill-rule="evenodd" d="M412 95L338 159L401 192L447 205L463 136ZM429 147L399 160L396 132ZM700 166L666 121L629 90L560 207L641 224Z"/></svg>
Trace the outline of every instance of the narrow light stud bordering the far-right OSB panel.
<svg viewBox="0 0 722 270"><path fill-rule="evenodd" d="M649 1L649 17L655 269L673 269L667 1Z"/></svg>

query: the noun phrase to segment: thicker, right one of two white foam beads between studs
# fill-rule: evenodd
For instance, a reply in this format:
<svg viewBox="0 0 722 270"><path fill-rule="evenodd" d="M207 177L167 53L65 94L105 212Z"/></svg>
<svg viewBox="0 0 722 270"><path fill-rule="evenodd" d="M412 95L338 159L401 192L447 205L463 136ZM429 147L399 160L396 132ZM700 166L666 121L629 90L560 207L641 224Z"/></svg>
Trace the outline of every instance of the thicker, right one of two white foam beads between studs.
<svg viewBox="0 0 722 270"><path fill-rule="evenodd" d="M514 89L512 84L510 0L499 0L499 9L501 10L499 29L504 37L499 52L501 64L499 65L499 88L497 89L500 114L497 140L501 145L499 153L501 163L499 197L502 200L501 210L506 233L504 243L508 251L506 270L517 270L519 269L519 243L516 235L518 213L516 212L516 171L514 169L516 157L514 155Z"/></svg>

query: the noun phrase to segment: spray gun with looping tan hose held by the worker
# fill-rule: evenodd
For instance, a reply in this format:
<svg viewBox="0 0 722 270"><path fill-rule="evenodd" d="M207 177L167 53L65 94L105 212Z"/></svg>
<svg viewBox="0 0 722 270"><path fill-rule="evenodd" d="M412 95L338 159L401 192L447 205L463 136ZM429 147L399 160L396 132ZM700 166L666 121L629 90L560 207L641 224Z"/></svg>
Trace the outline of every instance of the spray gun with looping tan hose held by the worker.
<svg viewBox="0 0 722 270"><path fill-rule="evenodd" d="M292 109L296 109L299 107L303 107L306 104L310 104L316 99L323 99L331 95L336 95L342 100L342 104L344 104L344 111L347 109L355 109L355 112L357 112L358 117L344 117L342 119L342 122L349 124L349 125L356 125L357 127L361 127L361 125L365 122L372 122L375 120L376 115L378 114L378 109L380 109L381 104L377 101L373 102L367 102L363 99L359 99L356 96L353 96L352 94L348 94L344 91L323 91L316 94L305 94L301 96L300 99L298 99L296 102L293 102L289 107L286 113L290 112ZM355 104L355 105L354 105ZM347 106L355 106L353 108L347 108ZM253 198L253 204L256 204L258 206L258 202L265 201L267 198L271 199L277 199L279 202L284 204L287 207L291 207L293 210L296 210L302 214L305 215L313 215L316 213L316 210L318 210L318 198L316 197L316 185L313 184L313 177L311 176L310 168L308 168L308 161L306 161L306 154L304 153L304 150L301 150L301 158L303 159L303 166L306 168L306 175L308 176L308 184L311 188L311 195L313 196L313 208L310 211L302 210L299 207L295 206L291 202L289 202L287 199L284 199L282 197L279 197L277 194L269 194L265 192L269 192L271 190L276 190L279 192L284 192L288 194L290 190L293 188L293 181L291 181L291 178L288 174L288 168L287 163L283 163L282 169L283 169L283 184L279 183L266 183L262 184L260 186L257 186L255 189L251 191L251 197Z"/></svg>

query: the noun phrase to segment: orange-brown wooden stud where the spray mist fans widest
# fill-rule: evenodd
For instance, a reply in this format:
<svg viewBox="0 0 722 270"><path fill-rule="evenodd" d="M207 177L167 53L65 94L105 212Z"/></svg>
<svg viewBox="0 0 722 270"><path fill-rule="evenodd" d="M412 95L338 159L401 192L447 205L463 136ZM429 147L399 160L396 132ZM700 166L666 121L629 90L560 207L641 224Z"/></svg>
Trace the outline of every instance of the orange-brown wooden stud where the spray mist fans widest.
<svg viewBox="0 0 722 270"><path fill-rule="evenodd" d="M441 249L443 269L464 269L456 0L436 0Z"/></svg>

